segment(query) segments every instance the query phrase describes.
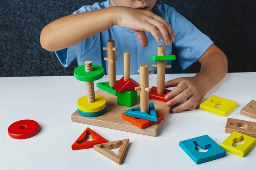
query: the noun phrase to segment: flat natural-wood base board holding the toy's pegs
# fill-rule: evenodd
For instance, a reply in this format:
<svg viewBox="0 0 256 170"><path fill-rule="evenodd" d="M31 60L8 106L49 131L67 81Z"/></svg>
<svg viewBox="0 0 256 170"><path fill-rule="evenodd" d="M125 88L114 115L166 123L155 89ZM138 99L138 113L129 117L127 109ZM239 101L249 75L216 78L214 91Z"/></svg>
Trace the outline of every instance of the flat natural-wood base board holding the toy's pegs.
<svg viewBox="0 0 256 170"><path fill-rule="evenodd" d="M156 111L164 115L164 120L154 125L151 125L145 129L140 129L139 127L131 124L125 119L122 119L122 113L124 113L128 109L131 109L140 105L139 91L137 93L138 95L137 102L133 107L118 105L116 96L113 96L112 94L109 94L108 92L103 91L101 89L98 89L95 92L95 94L105 97L107 101L107 112L102 116L98 116L98 117L84 117L84 116L81 116L76 110L71 115L71 120L73 122L79 122L87 125L95 125L100 127L107 127L111 129L123 130L127 132L132 132L132 133L139 133L139 134L148 135L148 136L157 136L157 133L159 132L160 128L163 126L163 123L165 122L166 118L170 113L170 108L167 105L163 104L163 102L154 100L154 99L149 99L149 102L154 102L154 107Z"/></svg>

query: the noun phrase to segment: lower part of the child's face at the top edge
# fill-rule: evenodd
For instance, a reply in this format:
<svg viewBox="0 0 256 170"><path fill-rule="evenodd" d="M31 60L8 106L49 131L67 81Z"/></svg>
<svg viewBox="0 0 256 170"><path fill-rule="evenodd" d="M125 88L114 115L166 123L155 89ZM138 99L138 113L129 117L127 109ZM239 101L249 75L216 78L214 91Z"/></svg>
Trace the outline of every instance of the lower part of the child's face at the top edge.
<svg viewBox="0 0 256 170"><path fill-rule="evenodd" d="M110 0L110 6L126 6L150 11L157 0Z"/></svg>

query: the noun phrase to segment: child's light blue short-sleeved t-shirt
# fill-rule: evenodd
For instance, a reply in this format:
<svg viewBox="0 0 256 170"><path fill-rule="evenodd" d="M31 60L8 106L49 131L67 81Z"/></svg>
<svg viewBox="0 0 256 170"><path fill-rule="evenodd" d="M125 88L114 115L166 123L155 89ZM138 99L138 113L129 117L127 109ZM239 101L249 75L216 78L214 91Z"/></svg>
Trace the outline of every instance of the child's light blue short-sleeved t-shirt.
<svg viewBox="0 0 256 170"><path fill-rule="evenodd" d="M94 3L92 6L82 6L73 14L108 7L110 7L109 0L102 3ZM185 69L196 62L207 48L213 44L212 40L175 11L174 8L166 4L156 4L151 11L169 21L176 34L175 42L166 46L164 42L157 42L150 32L145 31L148 37L148 46L143 47L134 31L120 26L113 26L76 45L55 51L55 54L64 67L70 65L70 62L74 59L77 59L78 65L83 65L84 61L90 60L93 64L101 65L105 69L105 74L108 74L108 62L104 60L104 57L108 57L108 52L103 51L103 47L107 46L108 40L114 40L118 49L116 57L120 58L116 61L116 74L124 74L123 53L125 51L131 54L131 74L139 74L137 70L141 64L148 64L149 70L154 71L154 74L156 74L157 68L152 68L151 65L157 64L157 62L148 61L148 57L156 56L157 47L165 45L166 55L176 55L176 60L166 61L166 65L172 65L171 68L166 68L166 74L185 73Z"/></svg>

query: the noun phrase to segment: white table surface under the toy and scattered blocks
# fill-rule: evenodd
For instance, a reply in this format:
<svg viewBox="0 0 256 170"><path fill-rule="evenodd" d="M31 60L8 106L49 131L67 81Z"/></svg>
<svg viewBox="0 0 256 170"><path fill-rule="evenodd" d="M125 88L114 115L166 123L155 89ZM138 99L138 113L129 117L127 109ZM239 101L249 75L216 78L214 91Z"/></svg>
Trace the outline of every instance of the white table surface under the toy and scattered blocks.
<svg viewBox="0 0 256 170"><path fill-rule="evenodd" d="M169 74L166 80L195 74ZM122 76L117 75L117 79ZM131 78L139 82L139 75ZM156 75L150 75L150 87L156 86ZM108 81L103 77L96 82ZM95 82L95 89L96 88ZM86 83L68 77L2 77L0 78L0 170L123 170L149 169L249 169L255 166L256 147L244 158L227 152L227 156L196 165L179 147L182 140L208 134L221 144L230 134L224 132L227 117L254 121L240 115L240 110L256 100L256 73L232 73L211 91L238 102L238 107L223 117L201 109L169 114L159 136L145 136L120 130L85 125L71 121L77 99L86 94ZM171 88L172 89L172 88ZM204 101L203 100L203 101ZM21 119L33 119L41 126L34 137L12 139L9 125ZM93 149L71 150L71 145L90 127L108 141L130 139L128 152L121 165Z"/></svg>

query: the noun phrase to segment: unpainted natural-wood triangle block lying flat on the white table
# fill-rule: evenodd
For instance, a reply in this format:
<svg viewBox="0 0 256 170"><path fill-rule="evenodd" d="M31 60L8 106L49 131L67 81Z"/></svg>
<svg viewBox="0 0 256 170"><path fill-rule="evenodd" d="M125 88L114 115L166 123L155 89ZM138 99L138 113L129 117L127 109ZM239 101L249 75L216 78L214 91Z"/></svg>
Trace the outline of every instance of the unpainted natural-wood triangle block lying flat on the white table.
<svg viewBox="0 0 256 170"><path fill-rule="evenodd" d="M106 156L107 158L111 159L112 161L116 162L117 164L122 164L123 156L127 150L129 144L129 139L123 139L119 141L107 142L103 144L96 144L94 145L94 150L101 153L102 155ZM111 149L118 150L118 156L111 151Z"/></svg>

